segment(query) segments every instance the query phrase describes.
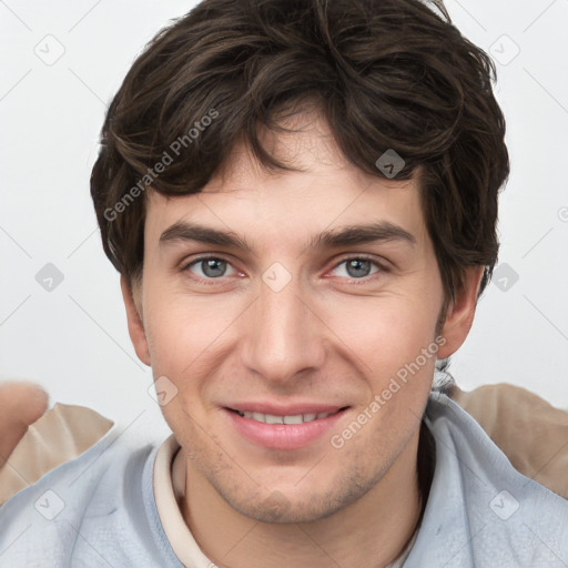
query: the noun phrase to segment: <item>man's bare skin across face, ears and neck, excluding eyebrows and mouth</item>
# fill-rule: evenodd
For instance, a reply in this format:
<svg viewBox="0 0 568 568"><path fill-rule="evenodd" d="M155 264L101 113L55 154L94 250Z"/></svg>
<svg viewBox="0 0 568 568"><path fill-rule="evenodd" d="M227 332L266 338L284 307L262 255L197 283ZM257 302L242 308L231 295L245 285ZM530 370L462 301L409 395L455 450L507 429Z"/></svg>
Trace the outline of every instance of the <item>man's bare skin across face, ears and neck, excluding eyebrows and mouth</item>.
<svg viewBox="0 0 568 568"><path fill-rule="evenodd" d="M462 345L483 268L466 271L436 329L444 293L417 180L363 173L315 112L287 120L302 132L263 132L262 140L304 171L267 172L240 144L202 193L148 194L142 278L134 290L122 278L129 331L154 377L178 389L162 410L186 462L181 510L209 558L231 568L383 567L419 516L416 454L435 357L341 449L331 435L364 413L438 331L438 356ZM253 252L160 245L179 221L232 231ZM398 225L415 243L308 246L326 230L371 221ZM189 266L211 253L227 261L214 273L221 277L203 263ZM367 272L348 272L342 261L361 254L372 257ZM275 262L292 277L277 293L262 280ZM348 409L307 447L270 449L241 437L224 409L253 399Z"/></svg>

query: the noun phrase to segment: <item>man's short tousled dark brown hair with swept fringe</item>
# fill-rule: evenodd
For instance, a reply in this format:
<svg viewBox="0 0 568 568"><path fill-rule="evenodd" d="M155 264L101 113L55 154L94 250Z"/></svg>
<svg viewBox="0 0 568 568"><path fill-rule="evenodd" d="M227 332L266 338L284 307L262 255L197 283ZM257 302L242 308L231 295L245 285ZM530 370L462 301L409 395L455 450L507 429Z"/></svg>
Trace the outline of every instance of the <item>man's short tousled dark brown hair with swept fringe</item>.
<svg viewBox="0 0 568 568"><path fill-rule="evenodd" d="M283 109L310 99L361 170L384 178L375 162L394 150L397 180L419 172L446 300L466 266L486 267L483 290L509 174L505 120L493 61L432 3L203 0L160 31L110 104L91 175L113 265L130 283L141 275L146 186L199 193L240 139L263 166L293 170L257 129L277 130Z"/></svg>

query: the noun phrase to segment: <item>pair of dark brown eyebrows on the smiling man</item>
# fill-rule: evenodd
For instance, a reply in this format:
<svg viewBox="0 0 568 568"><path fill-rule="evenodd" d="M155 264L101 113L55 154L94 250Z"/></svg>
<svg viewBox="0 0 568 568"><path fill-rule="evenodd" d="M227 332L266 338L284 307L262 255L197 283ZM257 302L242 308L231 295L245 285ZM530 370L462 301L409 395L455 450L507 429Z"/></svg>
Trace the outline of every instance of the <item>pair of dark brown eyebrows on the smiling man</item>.
<svg viewBox="0 0 568 568"><path fill-rule="evenodd" d="M185 221L179 221L166 229L160 236L160 246L184 241L240 248L253 253L248 242L232 231L220 231ZM314 235L308 246L314 250L337 248L339 246L353 246L377 241L400 241L413 246L416 244L416 239L408 231L402 226L382 221L324 231L318 235Z"/></svg>

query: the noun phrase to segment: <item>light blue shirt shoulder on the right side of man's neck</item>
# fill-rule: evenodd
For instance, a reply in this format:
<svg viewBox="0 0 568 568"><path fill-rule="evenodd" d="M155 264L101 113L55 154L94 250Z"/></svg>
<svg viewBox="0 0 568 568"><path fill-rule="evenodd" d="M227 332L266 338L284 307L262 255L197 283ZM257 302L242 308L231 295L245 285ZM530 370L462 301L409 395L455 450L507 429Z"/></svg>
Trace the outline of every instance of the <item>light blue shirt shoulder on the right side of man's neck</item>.
<svg viewBox="0 0 568 568"><path fill-rule="evenodd" d="M405 567L562 567L568 501L516 470L479 424L443 394L425 422L436 468Z"/></svg>

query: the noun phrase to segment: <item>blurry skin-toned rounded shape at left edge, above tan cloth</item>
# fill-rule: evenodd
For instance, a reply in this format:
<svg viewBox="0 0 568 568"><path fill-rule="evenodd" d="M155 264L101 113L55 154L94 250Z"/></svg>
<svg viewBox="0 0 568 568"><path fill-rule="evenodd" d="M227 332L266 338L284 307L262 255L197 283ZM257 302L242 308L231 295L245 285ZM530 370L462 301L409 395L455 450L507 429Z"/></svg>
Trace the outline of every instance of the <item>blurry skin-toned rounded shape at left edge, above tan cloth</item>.
<svg viewBox="0 0 568 568"><path fill-rule="evenodd" d="M33 383L0 383L0 467L4 465L28 426L48 409L49 395Z"/></svg>

